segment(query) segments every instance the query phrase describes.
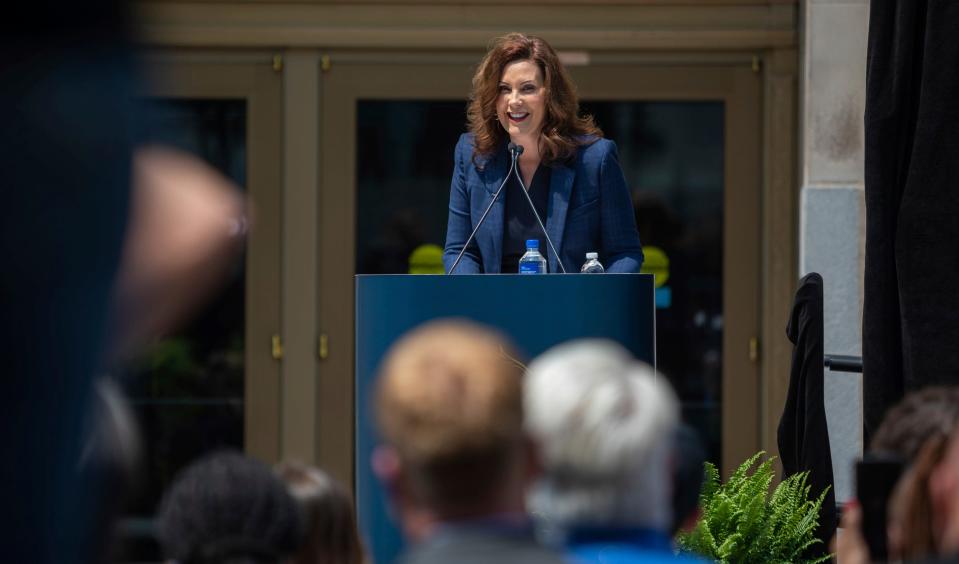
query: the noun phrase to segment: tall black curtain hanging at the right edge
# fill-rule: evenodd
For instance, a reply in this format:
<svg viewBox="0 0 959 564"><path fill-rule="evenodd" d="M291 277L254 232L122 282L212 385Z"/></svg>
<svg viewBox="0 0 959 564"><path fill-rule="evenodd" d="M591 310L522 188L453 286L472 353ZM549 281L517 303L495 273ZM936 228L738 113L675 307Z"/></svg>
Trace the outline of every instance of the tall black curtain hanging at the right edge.
<svg viewBox="0 0 959 564"><path fill-rule="evenodd" d="M865 130L868 441L905 393L959 382L959 2L872 1Z"/></svg>

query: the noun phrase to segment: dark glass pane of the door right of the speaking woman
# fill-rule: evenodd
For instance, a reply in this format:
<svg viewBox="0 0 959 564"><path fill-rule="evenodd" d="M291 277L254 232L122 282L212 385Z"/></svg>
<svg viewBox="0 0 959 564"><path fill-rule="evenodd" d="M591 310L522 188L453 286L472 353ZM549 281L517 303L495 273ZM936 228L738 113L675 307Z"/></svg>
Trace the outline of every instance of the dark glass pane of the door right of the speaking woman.
<svg viewBox="0 0 959 564"><path fill-rule="evenodd" d="M710 460L720 463L724 122L722 102L584 102L619 146L644 271L657 274L656 362ZM665 278L665 283L663 278Z"/></svg>

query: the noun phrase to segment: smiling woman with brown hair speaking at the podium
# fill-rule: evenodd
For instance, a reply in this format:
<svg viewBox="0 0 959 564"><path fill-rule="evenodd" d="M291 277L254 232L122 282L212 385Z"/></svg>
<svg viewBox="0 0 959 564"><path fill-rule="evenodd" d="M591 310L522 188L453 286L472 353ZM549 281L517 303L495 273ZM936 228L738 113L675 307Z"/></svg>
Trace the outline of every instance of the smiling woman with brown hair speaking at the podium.
<svg viewBox="0 0 959 564"><path fill-rule="evenodd" d="M548 43L519 33L494 40L473 76L467 118L450 188L447 272L515 273L528 239L541 242L549 272L562 270L556 253L567 272L579 272L587 252L598 252L607 272L639 272L643 251L616 144L579 115ZM522 184L510 172L514 159Z"/></svg>

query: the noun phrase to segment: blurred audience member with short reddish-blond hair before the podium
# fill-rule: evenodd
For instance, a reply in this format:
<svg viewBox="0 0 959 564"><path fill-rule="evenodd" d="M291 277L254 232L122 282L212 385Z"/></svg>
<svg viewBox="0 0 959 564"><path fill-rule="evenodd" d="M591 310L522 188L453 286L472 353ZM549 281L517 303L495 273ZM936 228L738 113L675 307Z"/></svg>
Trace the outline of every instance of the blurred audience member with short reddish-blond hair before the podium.
<svg viewBox="0 0 959 564"><path fill-rule="evenodd" d="M524 513L537 458L523 432L522 368L499 335L434 322L393 346L378 382L373 456L409 564L557 563Z"/></svg>

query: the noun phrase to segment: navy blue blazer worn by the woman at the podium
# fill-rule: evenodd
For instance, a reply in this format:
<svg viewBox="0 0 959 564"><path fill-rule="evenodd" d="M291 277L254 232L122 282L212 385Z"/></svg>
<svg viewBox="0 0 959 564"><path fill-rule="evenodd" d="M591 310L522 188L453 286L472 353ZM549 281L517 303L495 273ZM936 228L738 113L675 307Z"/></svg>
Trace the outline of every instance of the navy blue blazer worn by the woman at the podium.
<svg viewBox="0 0 959 564"><path fill-rule="evenodd" d="M472 158L473 135L464 133L456 144L450 186L443 252L447 272L509 171L505 147L491 157L477 157L476 164ZM505 201L505 194L500 193L456 274L500 271ZM606 272L639 272L643 264L633 201L619 167L616 144L608 139L583 145L570 161L552 167L544 223L567 272L579 272L590 251L599 253ZM560 272L545 238L540 240L540 252L549 261L549 272Z"/></svg>

